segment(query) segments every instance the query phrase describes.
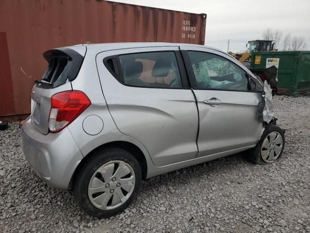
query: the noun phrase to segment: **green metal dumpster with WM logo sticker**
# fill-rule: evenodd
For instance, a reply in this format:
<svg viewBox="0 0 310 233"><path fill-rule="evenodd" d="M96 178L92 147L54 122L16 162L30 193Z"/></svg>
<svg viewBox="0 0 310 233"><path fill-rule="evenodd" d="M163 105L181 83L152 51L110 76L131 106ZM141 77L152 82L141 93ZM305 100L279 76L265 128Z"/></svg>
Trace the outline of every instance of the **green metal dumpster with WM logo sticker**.
<svg viewBox="0 0 310 233"><path fill-rule="evenodd" d="M251 68L278 68L278 93L310 92L310 51L252 52Z"/></svg>

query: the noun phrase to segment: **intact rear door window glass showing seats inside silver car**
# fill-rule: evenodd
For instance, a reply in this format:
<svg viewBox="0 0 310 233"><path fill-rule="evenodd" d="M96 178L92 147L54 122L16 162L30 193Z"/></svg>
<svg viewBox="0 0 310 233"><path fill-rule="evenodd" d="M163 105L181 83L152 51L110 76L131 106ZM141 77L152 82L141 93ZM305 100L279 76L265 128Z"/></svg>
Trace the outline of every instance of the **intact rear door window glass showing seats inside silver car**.
<svg viewBox="0 0 310 233"><path fill-rule="evenodd" d="M140 87L181 88L173 51L119 55L124 84Z"/></svg>

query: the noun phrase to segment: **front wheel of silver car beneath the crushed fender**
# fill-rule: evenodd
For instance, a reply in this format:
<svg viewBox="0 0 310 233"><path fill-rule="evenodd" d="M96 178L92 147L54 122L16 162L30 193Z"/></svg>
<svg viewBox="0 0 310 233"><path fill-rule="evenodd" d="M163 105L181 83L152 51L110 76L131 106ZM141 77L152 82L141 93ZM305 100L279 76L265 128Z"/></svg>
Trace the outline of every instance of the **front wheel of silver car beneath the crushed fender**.
<svg viewBox="0 0 310 233"><path fill-rule="evenodd" d="M272 124L266 125L259 143L251 150L251 162L260 165L276 162L282 155L284 144L285 138L281 128Z"/></svg>

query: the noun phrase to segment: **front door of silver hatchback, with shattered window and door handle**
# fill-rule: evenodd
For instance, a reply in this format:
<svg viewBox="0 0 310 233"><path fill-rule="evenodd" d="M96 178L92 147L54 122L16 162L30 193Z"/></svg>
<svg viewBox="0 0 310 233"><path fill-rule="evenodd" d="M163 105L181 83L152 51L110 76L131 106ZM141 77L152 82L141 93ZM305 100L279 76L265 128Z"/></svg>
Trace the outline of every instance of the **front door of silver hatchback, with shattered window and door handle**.
<svg viewBox="0 0 310 233"><path fill-rule="evenodd" d="M261 93L248 90L247 72L223 52L181 49L198 102L198 157L255 146L262 132L258 116Z"/></svg>

